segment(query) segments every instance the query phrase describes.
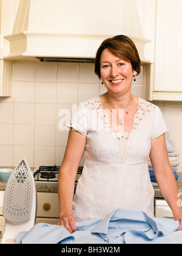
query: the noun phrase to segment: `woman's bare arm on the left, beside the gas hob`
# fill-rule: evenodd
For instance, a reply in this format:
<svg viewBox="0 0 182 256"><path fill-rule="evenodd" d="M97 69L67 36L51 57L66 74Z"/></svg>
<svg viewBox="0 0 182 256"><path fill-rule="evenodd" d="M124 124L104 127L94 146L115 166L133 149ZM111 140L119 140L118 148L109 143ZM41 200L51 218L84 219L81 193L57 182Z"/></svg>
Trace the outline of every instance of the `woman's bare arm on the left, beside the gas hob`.
<svg viewBox="0 0 182 256"><path fill-rule="evenodd" d="M58 197L59 222L58 225L66 227L70 233L76 230L76 218L72 212L72 201L75 189L75 178L79 162L84 154L86 136L71 130L67 141L64 159L59 169Z"/></svg>

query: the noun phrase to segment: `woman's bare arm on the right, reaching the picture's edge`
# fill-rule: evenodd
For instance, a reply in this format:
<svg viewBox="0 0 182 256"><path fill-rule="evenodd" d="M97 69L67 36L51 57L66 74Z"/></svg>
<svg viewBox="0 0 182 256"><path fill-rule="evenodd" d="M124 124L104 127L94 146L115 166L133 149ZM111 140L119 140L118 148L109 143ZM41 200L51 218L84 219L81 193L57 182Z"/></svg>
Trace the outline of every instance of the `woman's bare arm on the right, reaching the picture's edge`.
<svg viewBox="0 0 182 256"><path fill-rule="evenodd" d="M164 134L151 141L150 161L161 193L171 208L175 221L181 222L178 230L182 230L182 207L179 204L177 182L169 163Z"/></svg>

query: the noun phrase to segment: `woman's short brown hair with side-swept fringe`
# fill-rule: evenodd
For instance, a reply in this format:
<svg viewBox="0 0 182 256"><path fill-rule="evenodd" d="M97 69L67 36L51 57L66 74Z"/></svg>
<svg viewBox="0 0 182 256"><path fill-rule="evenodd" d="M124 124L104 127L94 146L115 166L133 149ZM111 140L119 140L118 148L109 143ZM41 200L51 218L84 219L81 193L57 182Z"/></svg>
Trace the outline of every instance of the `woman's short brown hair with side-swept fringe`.
<svg viewBox="0 0 182 256"><path fill-rule="evenodd" d="M140 74L141 60L135 44L129 37L126 37L126 35L116 35L115 37L104 40L96 52L95 74L99 77L99 79L101 79L100 59L104 49L109 49L115 56L130 62L133 70L137 72L137 75Z"/></svg>

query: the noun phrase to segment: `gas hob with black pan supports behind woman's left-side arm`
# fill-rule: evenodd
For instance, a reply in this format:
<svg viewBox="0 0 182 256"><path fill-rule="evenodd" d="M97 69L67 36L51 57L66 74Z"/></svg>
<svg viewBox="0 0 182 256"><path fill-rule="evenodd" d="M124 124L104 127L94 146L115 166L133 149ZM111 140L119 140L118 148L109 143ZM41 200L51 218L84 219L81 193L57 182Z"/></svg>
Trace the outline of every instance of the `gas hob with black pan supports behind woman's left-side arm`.
<svg viewBox="0 0 182 256"><path fill-rule="evenodd" d="M39 168L35 168L33 170L33 177L35 179L35 182L58 182L58 175L59 175L59 168L60 166L39 166ZM78 182L79 176L81 176L81 173L83 171L83 166L78 167L78 171L76 174L76 180L75 183Z"/></svg>

